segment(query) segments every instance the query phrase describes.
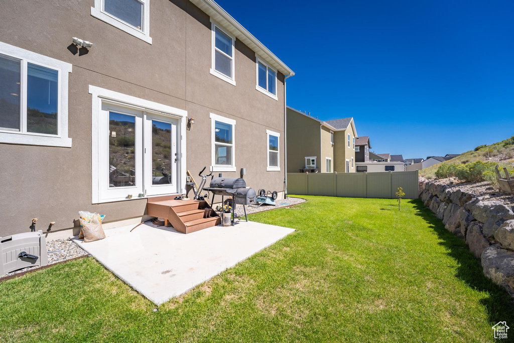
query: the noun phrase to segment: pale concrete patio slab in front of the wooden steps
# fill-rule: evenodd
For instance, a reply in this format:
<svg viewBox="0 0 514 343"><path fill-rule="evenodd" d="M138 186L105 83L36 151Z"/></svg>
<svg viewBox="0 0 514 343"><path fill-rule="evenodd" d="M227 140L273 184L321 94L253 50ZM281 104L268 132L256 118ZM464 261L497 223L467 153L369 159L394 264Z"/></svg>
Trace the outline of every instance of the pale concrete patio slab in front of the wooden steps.
<svg viewBox="0 0 514 343"><path fill-rule="evenodd" d="M183 234L151 222L105 230L96 242L74 241L157 305L177 297L295 231L255 222Z"/></svg>

